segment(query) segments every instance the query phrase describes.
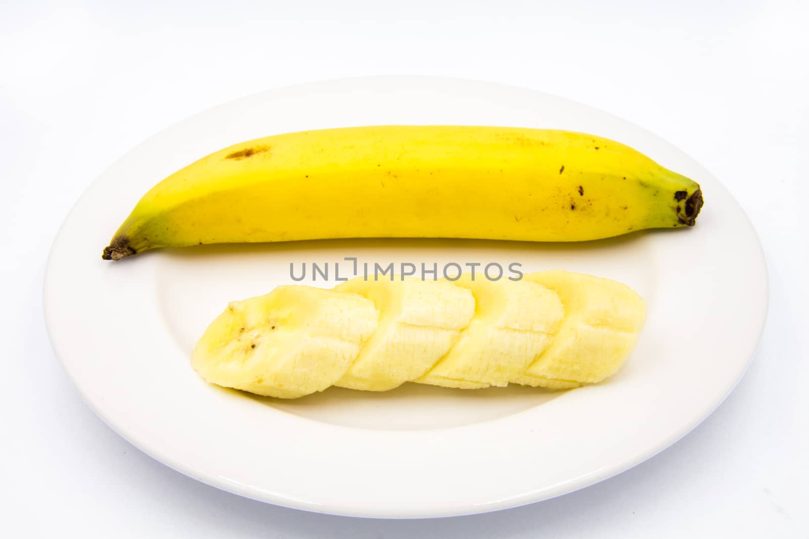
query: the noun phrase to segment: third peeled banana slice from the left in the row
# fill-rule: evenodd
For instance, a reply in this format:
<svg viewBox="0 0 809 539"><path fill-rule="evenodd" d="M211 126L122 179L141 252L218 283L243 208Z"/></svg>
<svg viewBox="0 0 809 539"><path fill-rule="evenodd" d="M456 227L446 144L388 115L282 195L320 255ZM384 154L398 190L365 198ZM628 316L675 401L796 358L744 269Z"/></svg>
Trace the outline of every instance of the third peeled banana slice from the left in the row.
<svg viewBox="0 0 809 539"><path fill-rule="evenodd" d="M475 316L447 356L417 380L423 384L508 385L548 347L565 316L557 294L531 281L462 276L455 284L472 292Z"/></svg>

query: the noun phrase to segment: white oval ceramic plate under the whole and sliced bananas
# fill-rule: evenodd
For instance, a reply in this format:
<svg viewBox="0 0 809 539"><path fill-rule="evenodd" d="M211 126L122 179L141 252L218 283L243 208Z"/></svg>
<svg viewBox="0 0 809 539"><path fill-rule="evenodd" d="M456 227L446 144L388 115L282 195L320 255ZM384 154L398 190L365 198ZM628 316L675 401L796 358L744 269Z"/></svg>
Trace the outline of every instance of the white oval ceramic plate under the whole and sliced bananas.
<svg viewBox="0 0 809 539"><path fill-rule="evenodd" d="M693 229L581 244L351 240L101 250L159 179L238 141L363 124L491 124L610 137L701 183ZM208 385L193 343L227 301L291 283L290 263L519 262L620 280L648 303L615 377L562 393L404 385L284 402ZM343 262L341 273L349 268ZM345 274L343 274L345 275ZM333 269L330 274L333 279ZM311 283L310 283L311 284ZM318 281L329 286L332 283ZM116 162L66 218L45 279L53 347L104 421L159 461L250 498L355 516L491 511L628 469L731 391L765 322L765 262L747 217L692 158L642 128L534 91L443 78L360 78L269 91L158 133Z"/></svg>

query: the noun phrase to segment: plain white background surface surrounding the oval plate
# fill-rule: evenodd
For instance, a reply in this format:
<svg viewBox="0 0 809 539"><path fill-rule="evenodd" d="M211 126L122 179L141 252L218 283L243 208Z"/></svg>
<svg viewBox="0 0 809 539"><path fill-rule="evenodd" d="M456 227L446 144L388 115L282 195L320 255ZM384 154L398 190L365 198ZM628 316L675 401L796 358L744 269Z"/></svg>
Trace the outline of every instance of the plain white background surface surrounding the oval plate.
<svg viewBox="0 0 809 539"><path fill-rule="evenodd" d="M0 0L4 531L807 537L809 230L798 221L809 196L807 3L385 3ZM97 419L53 355L42 318L45 259L74 201L133 145L195 112L273 86L369 74L562 95L650 129L714 172L756 225L771 293L759 352L714 415L657 457L582 491L411 521L241 499L169 470Z"/></svg>

